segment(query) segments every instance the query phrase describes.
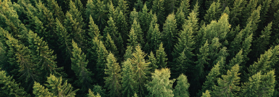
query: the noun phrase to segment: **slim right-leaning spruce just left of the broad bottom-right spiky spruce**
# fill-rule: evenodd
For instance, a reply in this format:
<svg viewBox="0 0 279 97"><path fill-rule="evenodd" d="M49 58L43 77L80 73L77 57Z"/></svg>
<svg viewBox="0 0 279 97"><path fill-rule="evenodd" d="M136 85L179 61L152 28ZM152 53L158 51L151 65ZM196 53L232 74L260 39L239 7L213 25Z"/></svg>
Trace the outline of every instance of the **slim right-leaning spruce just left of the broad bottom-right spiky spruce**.
<svg viewBox="0 0 279 97"><path fill-rule="evenodd" d="M213 90L213 86L217 84L217 77L220 76L220 65L219 62L213 66L209 74L206 76L205 82L203 83L201 91L199 91L198 96L201 96L203 92Z"/></svg>

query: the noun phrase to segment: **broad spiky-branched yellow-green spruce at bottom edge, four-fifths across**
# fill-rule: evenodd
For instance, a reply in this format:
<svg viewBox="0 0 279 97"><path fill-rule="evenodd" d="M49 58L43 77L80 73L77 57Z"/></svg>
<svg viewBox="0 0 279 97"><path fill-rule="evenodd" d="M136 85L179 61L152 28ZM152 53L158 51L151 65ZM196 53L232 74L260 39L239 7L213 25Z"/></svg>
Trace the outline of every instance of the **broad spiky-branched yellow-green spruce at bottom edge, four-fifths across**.
<svg viewBox="0 0 279 97"><path fill-rule="evenodd" d="M218 86L214 86L213 94L215 96L224 96L224 97L232 97L237 96L240 87L238 86L240 83L240 73L239 65L236 64L231 67L230 70L227 71L227 75L222 75L222 78L218 79Z"/></svg>

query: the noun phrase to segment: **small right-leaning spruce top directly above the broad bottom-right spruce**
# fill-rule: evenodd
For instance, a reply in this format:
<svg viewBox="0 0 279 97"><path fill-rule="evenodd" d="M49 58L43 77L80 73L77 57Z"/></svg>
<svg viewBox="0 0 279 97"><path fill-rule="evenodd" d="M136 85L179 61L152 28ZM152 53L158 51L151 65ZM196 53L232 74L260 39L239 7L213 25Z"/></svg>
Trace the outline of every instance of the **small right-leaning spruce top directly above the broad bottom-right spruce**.
<svg viewBox="0 0 279 97"><path fill-rule="evenodd" d="M242 62L243 62L243 55L242 55L242 49L236 54L236 56L234 58L232 58L229 61L229 65L227 65L227 69L231 69L232 66L234 66L235 64L239 64L241 65L240 68L242 68Z"/></svg>

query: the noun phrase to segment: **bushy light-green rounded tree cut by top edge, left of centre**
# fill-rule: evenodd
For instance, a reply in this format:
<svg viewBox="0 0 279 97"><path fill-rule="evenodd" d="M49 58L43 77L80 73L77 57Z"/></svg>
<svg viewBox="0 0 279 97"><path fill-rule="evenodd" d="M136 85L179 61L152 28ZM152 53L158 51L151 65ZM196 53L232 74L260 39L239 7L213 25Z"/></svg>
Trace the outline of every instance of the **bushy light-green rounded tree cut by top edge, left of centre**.
<svg viewBox="0 0 279 97"><path fill-rule="evenodd" d="M107 17L105 8L106 5L100 0L88 0L86 4L85 14L87 19L89 19L91 15L100 29L104 29L106 25L105 19L107 19Z"/></svg>

